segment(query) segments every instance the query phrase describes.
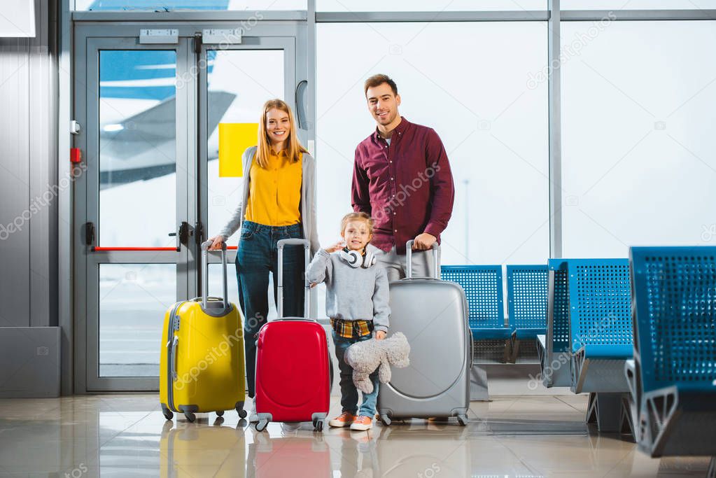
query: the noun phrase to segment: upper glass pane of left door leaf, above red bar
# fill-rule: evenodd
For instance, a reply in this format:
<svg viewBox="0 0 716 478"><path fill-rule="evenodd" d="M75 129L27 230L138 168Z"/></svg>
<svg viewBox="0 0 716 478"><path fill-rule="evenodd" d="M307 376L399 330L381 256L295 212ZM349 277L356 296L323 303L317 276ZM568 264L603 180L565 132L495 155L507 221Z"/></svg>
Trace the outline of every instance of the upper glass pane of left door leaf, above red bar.
<svg viewBox="0 0 716 478"><path fill-rule="evenodd" d="M100 235L166 247L176 218L176 53L100 52Z"/></svg>

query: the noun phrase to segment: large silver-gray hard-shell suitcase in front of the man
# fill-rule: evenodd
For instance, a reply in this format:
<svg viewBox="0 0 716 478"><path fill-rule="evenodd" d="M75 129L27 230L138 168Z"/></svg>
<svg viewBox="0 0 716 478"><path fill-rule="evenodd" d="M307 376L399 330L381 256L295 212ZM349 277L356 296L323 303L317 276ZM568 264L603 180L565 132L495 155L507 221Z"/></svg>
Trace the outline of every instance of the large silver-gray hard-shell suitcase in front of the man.
<svg viewBox="0 0 716 478"><path fill-rule="evenodd" d="M390 283L390 333L405 333L410 366L392 369L390 382L381 384L378 413L385 425L392 419L456 416L465 426L473 348L465 291L439 278L412 278L412 240L406 247L407 278ZM437 275L437 244L432 256Z"/></svg>

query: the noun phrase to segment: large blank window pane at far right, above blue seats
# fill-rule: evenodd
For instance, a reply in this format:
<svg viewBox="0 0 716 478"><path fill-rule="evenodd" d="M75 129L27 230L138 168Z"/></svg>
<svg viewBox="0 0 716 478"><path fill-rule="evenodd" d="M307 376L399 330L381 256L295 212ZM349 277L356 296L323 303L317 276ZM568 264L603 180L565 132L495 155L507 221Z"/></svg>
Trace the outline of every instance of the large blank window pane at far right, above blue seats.
<svg viewBox="0 0 716 478"><path fill-rule="evenodd" d="M614 21L563 49L565 257L716 240L715 48L715 21Z"/></svg>

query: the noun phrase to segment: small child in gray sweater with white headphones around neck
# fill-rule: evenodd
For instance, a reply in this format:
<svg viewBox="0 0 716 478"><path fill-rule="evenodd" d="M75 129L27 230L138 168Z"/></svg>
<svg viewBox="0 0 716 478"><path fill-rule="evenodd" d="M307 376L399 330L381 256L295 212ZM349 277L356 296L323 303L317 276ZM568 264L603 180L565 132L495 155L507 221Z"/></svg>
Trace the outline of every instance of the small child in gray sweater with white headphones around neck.
<svg viewBox="0 0 716 478"><path fill-rule="evenodd" d="M375 331L382 340L388 331L388 277L375 264L366 246L373 237L373 220L366 213L350 213L341 223L339 243L321 249L311 261L306 278L315 285L326 283L326 313L331 318L333 343L341 370L341 406L343 413L328 422L329 426L350 426L352 430L372 428L378 397L378 372L370 375L373 392L363 394L358 409L358 390L353 384L353 370L343 360L353 343L366 341ZM339 253L336 254L336 252ZM357 415L356 415L357 414Z"/></svg>

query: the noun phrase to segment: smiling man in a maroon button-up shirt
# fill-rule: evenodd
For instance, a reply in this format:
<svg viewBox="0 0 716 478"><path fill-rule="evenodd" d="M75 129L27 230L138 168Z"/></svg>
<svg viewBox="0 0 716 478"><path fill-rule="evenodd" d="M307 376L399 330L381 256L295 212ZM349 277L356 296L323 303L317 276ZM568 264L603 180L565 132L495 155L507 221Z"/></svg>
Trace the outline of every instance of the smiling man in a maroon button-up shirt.
<svg viewBox="0 0 716 478"><path fill-rule="evenodd" d="M410 239L413 275L432 276L430 248L440 243L455 200L448 155L435 130L400 116L400 95L390 77L370 77L364 93L377 127L355 151L353 209L374 219L371 243L389 281L405 277Z"/></svg>

